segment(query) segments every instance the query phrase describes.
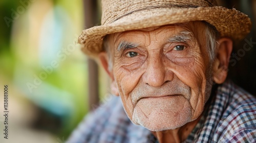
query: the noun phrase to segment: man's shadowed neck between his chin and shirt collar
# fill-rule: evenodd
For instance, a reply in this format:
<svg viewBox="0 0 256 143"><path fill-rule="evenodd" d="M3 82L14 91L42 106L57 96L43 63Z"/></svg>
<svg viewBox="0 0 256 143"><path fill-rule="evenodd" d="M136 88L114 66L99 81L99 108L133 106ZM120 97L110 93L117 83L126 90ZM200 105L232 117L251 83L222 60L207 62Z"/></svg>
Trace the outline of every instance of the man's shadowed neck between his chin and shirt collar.
<svg viewBox="0 0 256 143"><path fill-rule="evenodd" d="M186 140L191 131L196 127L201 116L197 120L189 122L184 126L177 128L175 130L165 130L160 132L152 132L155 137L158 139L159 143L173 143L173 142L182 142Z"/></svg>

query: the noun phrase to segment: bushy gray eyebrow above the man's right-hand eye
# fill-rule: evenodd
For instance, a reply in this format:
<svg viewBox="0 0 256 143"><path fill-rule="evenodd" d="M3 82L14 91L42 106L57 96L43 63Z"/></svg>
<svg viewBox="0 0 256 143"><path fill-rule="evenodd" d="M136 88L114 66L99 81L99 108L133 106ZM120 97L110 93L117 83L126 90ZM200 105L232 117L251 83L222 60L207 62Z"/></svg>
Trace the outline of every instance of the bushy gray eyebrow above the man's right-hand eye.
<svg viewBox="0 0 256 143"><path fill-rule="evenodd" d="M177 35L167 39L168 42L187 42L192 39L192 33L189 31L181 31Z"/></svg>

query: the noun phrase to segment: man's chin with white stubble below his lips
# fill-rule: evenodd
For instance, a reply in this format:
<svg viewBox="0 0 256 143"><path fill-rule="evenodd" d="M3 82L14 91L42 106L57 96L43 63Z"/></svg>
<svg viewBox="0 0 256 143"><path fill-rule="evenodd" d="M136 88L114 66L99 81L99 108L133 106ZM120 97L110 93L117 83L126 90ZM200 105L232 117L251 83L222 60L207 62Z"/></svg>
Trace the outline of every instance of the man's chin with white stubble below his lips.
<svg viewBox="0 0 256 143"><path fill-rule="evenodd" d="M187 105L187 106L186 106ZM141 108L134 109L132 122L141 125L150 131L165 131L175 130L193 121L191 118L191 109L188 104L185 104L183 109L173 110L165 106L159 108L155 106L149 114L143 112Z"/></svg>

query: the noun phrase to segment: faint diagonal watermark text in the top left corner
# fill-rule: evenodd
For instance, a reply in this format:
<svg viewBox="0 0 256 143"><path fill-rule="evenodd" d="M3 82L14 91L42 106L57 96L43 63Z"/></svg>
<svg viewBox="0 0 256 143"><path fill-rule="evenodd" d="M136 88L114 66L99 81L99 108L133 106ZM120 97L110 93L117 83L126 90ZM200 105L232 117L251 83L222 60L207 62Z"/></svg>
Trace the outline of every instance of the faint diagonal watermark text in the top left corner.
<svg viewBox="0 0 256 143"><path fill-rule="evenodd" d="M7 27L11 26L11 23L19 18L20 15L24 14L25 11L29 8L31 3L35 2L35 0L20 0L19 6L16 9L11 9L11 17L4 17Z"/></svg>

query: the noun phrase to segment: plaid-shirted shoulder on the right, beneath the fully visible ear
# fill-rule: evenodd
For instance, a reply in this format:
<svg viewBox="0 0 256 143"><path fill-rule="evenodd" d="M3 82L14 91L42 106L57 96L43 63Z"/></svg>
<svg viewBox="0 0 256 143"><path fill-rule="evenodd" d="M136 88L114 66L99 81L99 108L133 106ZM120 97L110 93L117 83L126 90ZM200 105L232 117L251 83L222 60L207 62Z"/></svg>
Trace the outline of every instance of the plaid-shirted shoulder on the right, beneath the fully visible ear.
<svg viewBox="0 0 256 143"><path fill-rule="evenodd" d="M216 130L218 142L256 141L256 98L230 82L223 89L228 101Z"/></svg>

